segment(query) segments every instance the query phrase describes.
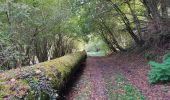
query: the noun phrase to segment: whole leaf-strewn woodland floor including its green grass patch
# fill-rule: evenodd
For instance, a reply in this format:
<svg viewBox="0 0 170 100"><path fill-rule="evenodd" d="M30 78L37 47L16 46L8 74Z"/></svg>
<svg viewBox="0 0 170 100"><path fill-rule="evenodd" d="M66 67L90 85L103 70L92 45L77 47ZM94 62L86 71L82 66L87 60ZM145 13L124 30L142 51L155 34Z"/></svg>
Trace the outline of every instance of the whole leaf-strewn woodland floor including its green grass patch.
<svg viewBox="0 0 170 100"><path fill-rule="evenodd" d="M141 55L88 57L74 75L66 100L170 100L170 84L150 85L149 66Z"/></svg>

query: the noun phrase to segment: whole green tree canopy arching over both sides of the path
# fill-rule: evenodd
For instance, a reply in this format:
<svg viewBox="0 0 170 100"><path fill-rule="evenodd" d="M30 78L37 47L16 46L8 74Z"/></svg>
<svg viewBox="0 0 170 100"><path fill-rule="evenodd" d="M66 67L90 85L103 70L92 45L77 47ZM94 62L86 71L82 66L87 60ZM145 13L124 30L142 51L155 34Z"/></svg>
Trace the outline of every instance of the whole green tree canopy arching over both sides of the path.
<svg viewBox="0 0 170 100"><path fill-rule="evenodd" d="M80 50L97 37L109 51L169 41L168 0L1 0L0 66L15 68Z"/></svg>

